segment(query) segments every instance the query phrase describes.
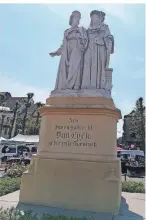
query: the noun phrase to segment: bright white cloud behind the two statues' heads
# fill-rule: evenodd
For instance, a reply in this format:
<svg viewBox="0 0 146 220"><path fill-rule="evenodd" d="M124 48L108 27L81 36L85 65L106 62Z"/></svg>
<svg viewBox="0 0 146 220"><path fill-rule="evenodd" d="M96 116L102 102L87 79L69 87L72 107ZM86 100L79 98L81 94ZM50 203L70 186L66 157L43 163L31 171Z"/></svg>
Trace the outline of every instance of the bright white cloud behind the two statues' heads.
<svg viewBox="0 0 146 220"><path fill-rule="evenodd" d="M88 27L90 23L90 12L92 10L103 10L107 15L120 19L124 23L132 22L133 15L124 4L47 4L50 11L64 19L69 19L73 10L79 10L82 14L81 25ZM129 7L128 7L129 8Z"/></svg>

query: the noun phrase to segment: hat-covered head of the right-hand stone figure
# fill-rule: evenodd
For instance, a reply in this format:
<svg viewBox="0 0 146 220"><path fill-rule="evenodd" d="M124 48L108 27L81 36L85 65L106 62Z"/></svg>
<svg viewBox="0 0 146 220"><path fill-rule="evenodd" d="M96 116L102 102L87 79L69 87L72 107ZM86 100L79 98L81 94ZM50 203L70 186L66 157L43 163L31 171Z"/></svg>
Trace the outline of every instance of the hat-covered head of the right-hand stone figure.
<svg viewBox="0 0 146 220"><path fill-rule="evenodd" d="M90 24L90 26L98 26L102 22L104 22L105 13L102 12L102 11L94 10L94 11L91 11L90 17L91 17L91 24Z"/></svg>

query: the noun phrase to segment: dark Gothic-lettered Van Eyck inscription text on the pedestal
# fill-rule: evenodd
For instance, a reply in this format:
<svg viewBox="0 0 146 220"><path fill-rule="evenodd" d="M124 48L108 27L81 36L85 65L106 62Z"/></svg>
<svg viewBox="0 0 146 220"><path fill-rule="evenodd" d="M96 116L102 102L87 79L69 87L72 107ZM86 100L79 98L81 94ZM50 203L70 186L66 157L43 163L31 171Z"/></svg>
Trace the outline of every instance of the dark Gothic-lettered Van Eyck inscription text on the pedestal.
<svg viewBox="0 0 146 220"><path fill-rule="evenodd" d="M55 140L50 140L48 146L64 147L97 147L93 141L91 124L81 125L76 118L69 118L67 125L55 125Z"/></svg>

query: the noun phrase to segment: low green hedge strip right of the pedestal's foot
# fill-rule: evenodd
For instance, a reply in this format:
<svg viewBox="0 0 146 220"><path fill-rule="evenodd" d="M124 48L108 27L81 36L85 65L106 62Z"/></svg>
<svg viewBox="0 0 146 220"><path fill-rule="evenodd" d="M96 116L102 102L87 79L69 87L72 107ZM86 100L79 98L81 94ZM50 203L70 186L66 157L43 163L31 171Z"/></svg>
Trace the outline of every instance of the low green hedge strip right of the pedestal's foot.
<svg viewBox="0 0 146 220"><path fill-rule="evenodd" d="M142 182L136 181L123 181L122 191L131 193L145 193L145 186Z"/></svg>

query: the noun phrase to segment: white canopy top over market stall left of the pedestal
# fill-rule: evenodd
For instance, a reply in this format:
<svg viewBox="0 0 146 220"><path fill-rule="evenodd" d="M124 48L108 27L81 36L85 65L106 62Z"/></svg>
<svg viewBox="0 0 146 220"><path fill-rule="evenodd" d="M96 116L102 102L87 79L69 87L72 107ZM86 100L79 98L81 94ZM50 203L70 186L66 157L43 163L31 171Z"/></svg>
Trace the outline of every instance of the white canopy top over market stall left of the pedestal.
<svg viewBox="0 0 146 220"><path fill-rule="evenodd" d="M7 142L25 142L25 143L39 143L39 135L22 135L18 134L17 136L11 139L5 139Z"/></svg>

